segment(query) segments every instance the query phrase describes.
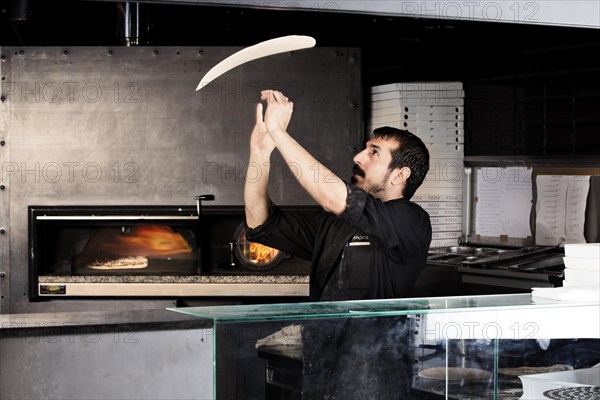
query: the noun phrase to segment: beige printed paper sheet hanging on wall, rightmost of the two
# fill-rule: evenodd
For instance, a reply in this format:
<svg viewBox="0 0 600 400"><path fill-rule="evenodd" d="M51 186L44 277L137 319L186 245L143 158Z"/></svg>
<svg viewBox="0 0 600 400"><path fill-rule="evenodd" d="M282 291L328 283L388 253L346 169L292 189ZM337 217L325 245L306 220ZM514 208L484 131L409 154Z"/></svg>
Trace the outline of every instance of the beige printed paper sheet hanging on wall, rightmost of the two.
<svg viewBox="0 0 600 400"><path fill-rule="evenodd" d="M536 244L585 243L583 227L590 177L539 175L536 186Z"/></svg>

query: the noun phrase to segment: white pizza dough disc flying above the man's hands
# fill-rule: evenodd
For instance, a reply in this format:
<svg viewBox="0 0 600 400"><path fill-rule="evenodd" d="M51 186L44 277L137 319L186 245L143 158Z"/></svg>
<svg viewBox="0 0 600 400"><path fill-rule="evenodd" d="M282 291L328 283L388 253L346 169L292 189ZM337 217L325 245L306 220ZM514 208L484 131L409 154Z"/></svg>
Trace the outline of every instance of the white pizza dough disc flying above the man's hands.
<svg viewBox="0 0 600 400"><path fill-rule="evenodd" d="M210 71L204 75L202 80L200 80L198 87L196 87L196 91L202 89L230 69L247 63L248 61L272 56L273 54L285 53L287 51L314 47L316 43L317 41L310 36L290 35L266 40L255 44L254 46L246 47L212 67Z"/></svg>

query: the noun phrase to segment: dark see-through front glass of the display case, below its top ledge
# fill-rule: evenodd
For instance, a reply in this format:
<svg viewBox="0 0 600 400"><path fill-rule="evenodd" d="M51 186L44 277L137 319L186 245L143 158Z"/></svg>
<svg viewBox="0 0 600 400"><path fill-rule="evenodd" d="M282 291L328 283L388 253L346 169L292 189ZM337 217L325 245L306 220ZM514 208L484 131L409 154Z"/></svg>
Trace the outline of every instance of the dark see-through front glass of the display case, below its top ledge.
<svg viewBox="0 0 600 400"><path fill-rule="evenodd" d="M518 400L600 384L599 339L423 342L417 314L228 322L215 332L216 399Z"/></svg>

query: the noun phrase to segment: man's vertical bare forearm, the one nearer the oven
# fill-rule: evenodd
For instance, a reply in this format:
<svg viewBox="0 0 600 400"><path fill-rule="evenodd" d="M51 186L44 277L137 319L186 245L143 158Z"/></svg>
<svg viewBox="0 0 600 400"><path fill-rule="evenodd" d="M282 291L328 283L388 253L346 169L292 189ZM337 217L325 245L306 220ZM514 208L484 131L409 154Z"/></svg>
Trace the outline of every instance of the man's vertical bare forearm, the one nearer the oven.
<svg viewBox="0 0 600 400"><path fill-rule="evenodd" d="M270 154L250 152L244 184L246 224L250 228L262 225L269 215L269 160Z"/></svg>

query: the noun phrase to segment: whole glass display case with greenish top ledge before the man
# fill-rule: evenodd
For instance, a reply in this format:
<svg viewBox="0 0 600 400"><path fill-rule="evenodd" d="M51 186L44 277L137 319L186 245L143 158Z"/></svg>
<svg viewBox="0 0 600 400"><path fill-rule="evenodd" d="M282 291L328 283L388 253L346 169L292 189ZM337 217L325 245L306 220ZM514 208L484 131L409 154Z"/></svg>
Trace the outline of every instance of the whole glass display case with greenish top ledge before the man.
<svg viewBox="0 0 600 400"><path fill-rule="evenodd" d="M600 300L510 294L171 310L213 321L216 399L600 396Z"/></svg>

